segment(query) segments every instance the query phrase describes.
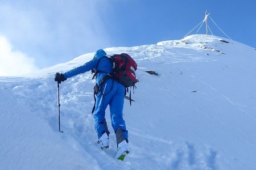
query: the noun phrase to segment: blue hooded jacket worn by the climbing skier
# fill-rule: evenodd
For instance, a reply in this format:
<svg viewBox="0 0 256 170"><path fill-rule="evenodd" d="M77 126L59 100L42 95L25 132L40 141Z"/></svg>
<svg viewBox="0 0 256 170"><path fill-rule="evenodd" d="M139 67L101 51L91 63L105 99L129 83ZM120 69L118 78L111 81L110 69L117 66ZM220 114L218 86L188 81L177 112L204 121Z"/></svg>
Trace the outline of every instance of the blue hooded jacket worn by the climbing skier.
<svg viewBox="0 0 256 170"><path fill-rule="evenodd" d="M71 78L72 76L75 76L77 74L85 73L86 71L96 69L97 64L98 64L97 70L106 72L106 73L98 73L97 74L96 82L99 85L101 79L107 73L112 73L112 62L110 62L110 60L108 58L105 58L104 56L106 56L106 52L104 50L102 50L102 49L97 50L97 52L94 54L94 57L91 61L86 62L84 65L76 67L75 69L72 69L72 70L64 73L65 78ZM102 58L102 57L104 57L104 58ZM100 61L100 59L101 59L101 61Z"/></svg>

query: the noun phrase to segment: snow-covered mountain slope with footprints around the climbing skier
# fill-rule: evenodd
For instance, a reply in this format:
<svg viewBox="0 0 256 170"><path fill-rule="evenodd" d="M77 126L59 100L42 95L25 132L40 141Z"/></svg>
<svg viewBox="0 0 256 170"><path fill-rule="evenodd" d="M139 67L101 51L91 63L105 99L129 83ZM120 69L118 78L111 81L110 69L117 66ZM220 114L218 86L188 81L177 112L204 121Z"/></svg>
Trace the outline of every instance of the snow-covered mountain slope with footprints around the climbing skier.
<svg viewBox="0 0 256 170"><path fill-rule="evenodd" d="M89 72L60 84L59 133L54 75L83 65L89 53L33 75L0 78L0 169L256 169L254 48L192 35L105 50L138 63L135 102L125 100L123 111L125 160L114 159L108 109L110 148L96 145Z"/></svg>

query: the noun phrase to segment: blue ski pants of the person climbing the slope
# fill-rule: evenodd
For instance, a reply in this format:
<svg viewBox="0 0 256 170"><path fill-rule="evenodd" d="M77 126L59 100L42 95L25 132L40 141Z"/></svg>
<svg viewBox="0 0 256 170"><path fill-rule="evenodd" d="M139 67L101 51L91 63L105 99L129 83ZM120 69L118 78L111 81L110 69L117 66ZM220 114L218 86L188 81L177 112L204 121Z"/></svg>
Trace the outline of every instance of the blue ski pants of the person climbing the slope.
<svg viewBox="0 0 256 170"><path fill-rule="evenodd" d="M105 119L105 110L109 105L112 128L115 133L117 129L121 129L123 131L123 137L128 139L125 120L123 120L125 90L125 86L111 78L102 83L102 87L96 95L94 111L95 129L97 131L98 138L100 138L105 132L109 133Z"/></svg>

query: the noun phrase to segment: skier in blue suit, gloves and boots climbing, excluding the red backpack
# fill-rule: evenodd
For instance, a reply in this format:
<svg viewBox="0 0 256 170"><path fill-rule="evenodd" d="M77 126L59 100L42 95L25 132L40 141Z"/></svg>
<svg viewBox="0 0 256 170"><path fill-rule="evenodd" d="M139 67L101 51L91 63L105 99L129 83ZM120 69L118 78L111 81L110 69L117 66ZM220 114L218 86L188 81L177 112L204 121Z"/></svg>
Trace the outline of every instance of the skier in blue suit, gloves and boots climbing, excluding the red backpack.
<svg viewBox="0 0 256 170"><path fill-rule="evenodd" d="M63 82L72 76L85 73L97 68L96 83L98 88L96 94L96 103L94 110L95 129L98 135L98 146L105 149L109 147L109 130L105 119L105 109L109 105L112 128L115 131L117 140L117 153L115 158L123 160L129 153L128 131L126 130L125 121L122 117L123 103L125 97L125 86L115 79L104 79L108 73L112 73L112 62L106 58L106 52L102 49L97 50L91 61L84 65L76 67L64 74L56 73L55 81ZM104 80L104 82L102 82Z"/></svg>

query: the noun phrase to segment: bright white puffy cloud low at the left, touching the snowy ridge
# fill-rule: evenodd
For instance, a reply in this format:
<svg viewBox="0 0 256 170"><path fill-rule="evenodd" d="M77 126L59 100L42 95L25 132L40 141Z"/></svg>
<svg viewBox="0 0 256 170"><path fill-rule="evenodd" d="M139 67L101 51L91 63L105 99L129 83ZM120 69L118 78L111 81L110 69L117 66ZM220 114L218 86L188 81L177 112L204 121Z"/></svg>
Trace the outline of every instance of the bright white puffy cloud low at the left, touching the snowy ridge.
<svg viewBox="0 0 256 170"><path fill-rule="evenodd" d="M36 70L33 58L13 50L9 40L0 36L0 76L19 76Z"/></svg>

